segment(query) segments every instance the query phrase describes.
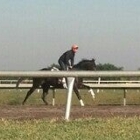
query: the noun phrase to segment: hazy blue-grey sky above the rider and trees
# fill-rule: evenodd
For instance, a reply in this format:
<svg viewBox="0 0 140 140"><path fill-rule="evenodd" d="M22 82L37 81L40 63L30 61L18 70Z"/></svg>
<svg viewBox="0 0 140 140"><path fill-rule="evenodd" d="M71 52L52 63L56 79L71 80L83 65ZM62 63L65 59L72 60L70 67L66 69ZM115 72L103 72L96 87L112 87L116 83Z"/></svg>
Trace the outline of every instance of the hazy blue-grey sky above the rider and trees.
<svg viewBox="0 0 140 140"><path fill-rule="evenodd" d="M140 0L0 0L0 70L38 70L79 46L96 59L140 68Z"/></svg>

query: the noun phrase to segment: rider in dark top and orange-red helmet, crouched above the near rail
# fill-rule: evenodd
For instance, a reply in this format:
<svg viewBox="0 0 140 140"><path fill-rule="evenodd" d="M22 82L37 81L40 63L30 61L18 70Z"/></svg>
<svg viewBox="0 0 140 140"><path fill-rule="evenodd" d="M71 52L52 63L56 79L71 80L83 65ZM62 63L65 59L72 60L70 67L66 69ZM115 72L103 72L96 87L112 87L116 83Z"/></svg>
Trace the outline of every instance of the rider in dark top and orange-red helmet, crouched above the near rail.
<svg viewBox="0 0 140 140"><path fill-rule="evenodd" d="M78 46L74 44L72 45L71 50L66 51L60 56L58 63L62 70L72 69L74 65L75 53L77 52L77 50Z"/></svg>

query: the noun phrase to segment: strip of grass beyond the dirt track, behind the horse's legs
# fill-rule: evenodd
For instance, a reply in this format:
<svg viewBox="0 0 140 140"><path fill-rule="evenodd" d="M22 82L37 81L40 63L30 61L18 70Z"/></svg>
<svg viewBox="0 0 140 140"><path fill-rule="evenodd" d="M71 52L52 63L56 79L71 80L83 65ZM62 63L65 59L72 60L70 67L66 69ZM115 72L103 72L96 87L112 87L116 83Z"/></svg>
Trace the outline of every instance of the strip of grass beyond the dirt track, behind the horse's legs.
<svg viewBox="0 0 140 140"><path fill-rule="evenodd" d="M0 105L20 105L25 98L28 90L0 90ZM123 90L100 90L99 93L95 92L95 99L93 100L88 90L81 90L80 95L86 105L122 105L123 104ZM38 93L35 91L27 100L26 104L44 104L42 99L42 90ZM63 105L66 103L67 91L56 90L56 104ZM52 91L49 91L47 101L52 103ZM127 90L126 93L127 104L140 105L140 91ZM79 105L76 95L73 93L73 105Z"/></svg>

